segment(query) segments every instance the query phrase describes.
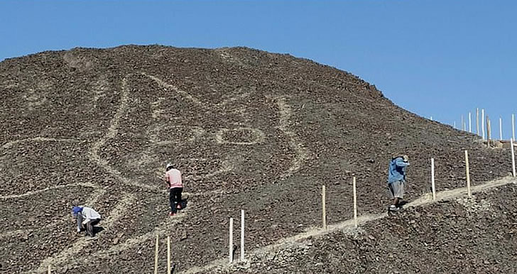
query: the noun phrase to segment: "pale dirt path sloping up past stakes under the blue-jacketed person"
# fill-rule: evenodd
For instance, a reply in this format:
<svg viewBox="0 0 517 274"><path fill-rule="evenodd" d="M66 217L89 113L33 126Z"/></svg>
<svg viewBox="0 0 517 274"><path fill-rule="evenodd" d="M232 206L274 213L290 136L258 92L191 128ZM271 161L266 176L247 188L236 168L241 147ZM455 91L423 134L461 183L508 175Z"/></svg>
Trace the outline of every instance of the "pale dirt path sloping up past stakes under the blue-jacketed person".
<svg viewBox="0 0 517 274"><path fill-rule="evenodd" d="M501 187L501 186L509 185L509 184L517 184L517 179L514 177L504 177L499 180L485 182L484 184L481 184L481 185L475 185L471 188L471 190L472 190L472 193L481 192L483 190L489 190L492 188ZM416 199L415 201L406 204L405 207L420 207L425 204L434 204L434 203L437 203L438 201L441 201L444 199L452 199L452 198L456 198L456 197L462 197L465 195L467 195L467 187L459 187L454 190L445 190L445 191L437 192L435 201L433 201L432 199L429 199L428 194L424 194L420 198ZM364 215L357 217L357 222L358 222L358 224L361 225L361 224L366 224L370 221L375 221L375 220L383 219L386 217L388 217L388 214L386 214L386 213L364 214ZM303 233L280 239L276 243L272 243L268 246L256 248L253 251L247 251L247 253L249 254L248 256L257 256L262 253L269 253L271 251L281 249L284 246L292 244L293 242L298 242L298 241L302 241L302 240L309 239L309 238L325 236L327 234L331 234L331 233L334 233L336 231L340 231L343 229L354 229L354 228L355 228L354 219L348 219L348 220L339 222L337 224L327 225L327 230L323 230L321 228L312 228ZM227 258L221 258L221 259L214 260L211 263L208 263L207 265L194 266L194 267L189 268L180 273L183 273L183 274L209 273L209 270L214 269L214 268L217 268L217 270L230 270L230 268L232 268L232 266L233 265L228 264Z"/></svg>

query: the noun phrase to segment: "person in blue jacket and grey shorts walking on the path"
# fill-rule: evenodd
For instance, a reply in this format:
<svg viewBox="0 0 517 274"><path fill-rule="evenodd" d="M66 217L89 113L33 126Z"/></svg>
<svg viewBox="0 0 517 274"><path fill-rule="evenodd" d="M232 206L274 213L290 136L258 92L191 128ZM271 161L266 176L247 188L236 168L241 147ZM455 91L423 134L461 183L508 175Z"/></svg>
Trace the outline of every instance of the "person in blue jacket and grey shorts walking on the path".
<svg viewBox="0 0 517 274"><path fill-rule="evenodd" d="M409 162L408 155L395 156L391 158L388 168L388 190L390 199L393 199L390 211L397 211L400 209L400 202L404 197L404 184L406 183L406 168Z"/></svg>

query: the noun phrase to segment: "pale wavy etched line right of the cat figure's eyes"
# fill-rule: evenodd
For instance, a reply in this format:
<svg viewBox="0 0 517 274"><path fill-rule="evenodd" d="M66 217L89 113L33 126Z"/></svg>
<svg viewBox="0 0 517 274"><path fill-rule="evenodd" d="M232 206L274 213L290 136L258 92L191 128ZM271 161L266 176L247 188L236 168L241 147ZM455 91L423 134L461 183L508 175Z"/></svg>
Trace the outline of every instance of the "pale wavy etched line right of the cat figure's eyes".
<svg viewBox="0 0 517 274"><path fill-rule="evenodd" d="M278 106L278 111L280 114L279 126L278 129L283 131L285 135L289 137L289 146L295 150L295 158L293 159L293 163L290 165L287 172L285 172L281 177L288 177L293 175L294 172L297 172L302 167L305 160L310 158L309 151L303 143L298 139L296 133L290 130L290 118L293 116L293 110L290 105L285 102L285 97L268 97L269 99L274 99L276 105Z"/></svg>

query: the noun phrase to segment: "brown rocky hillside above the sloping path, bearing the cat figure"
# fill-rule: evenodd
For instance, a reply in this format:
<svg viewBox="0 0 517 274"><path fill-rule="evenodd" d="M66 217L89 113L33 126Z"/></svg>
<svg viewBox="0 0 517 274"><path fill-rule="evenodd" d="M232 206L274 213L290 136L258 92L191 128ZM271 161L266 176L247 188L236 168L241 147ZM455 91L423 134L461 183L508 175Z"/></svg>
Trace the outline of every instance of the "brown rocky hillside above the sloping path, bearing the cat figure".
<svg viewBox="0 0 517 274"><path fill-rule="evenodd" d="M352 176L359 214L383 212L395 153L410 157L409 200L428 192L431 157L437 190L464 185L464 149L474 185L511 170L508 149L411 114L354 75L249 48L38 53L0 62L0 95L1 273L86 262L151 273L157 234L171 236L177 271L207 265L227 256L241 209L251 249L318 226L321 185L328 222L349 219ZM188 194L173 218L168 162ZM98 239L75 233L75 204L102 214Z"/></svg>

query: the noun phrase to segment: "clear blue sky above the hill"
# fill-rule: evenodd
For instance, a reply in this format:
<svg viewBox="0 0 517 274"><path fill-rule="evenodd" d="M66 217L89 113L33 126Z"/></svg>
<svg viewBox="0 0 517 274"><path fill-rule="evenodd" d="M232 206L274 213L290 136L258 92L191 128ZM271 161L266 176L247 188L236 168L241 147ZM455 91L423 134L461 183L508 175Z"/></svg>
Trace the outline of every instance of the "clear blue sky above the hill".
<svg viewBox="0 0 517 274"><path fill-rule="evenodd" d="M244 45L332 65L444 124L517 114L517 1L6 1L0 60L124 44ZM499 128L494 129L499 136Z"/></svg>

